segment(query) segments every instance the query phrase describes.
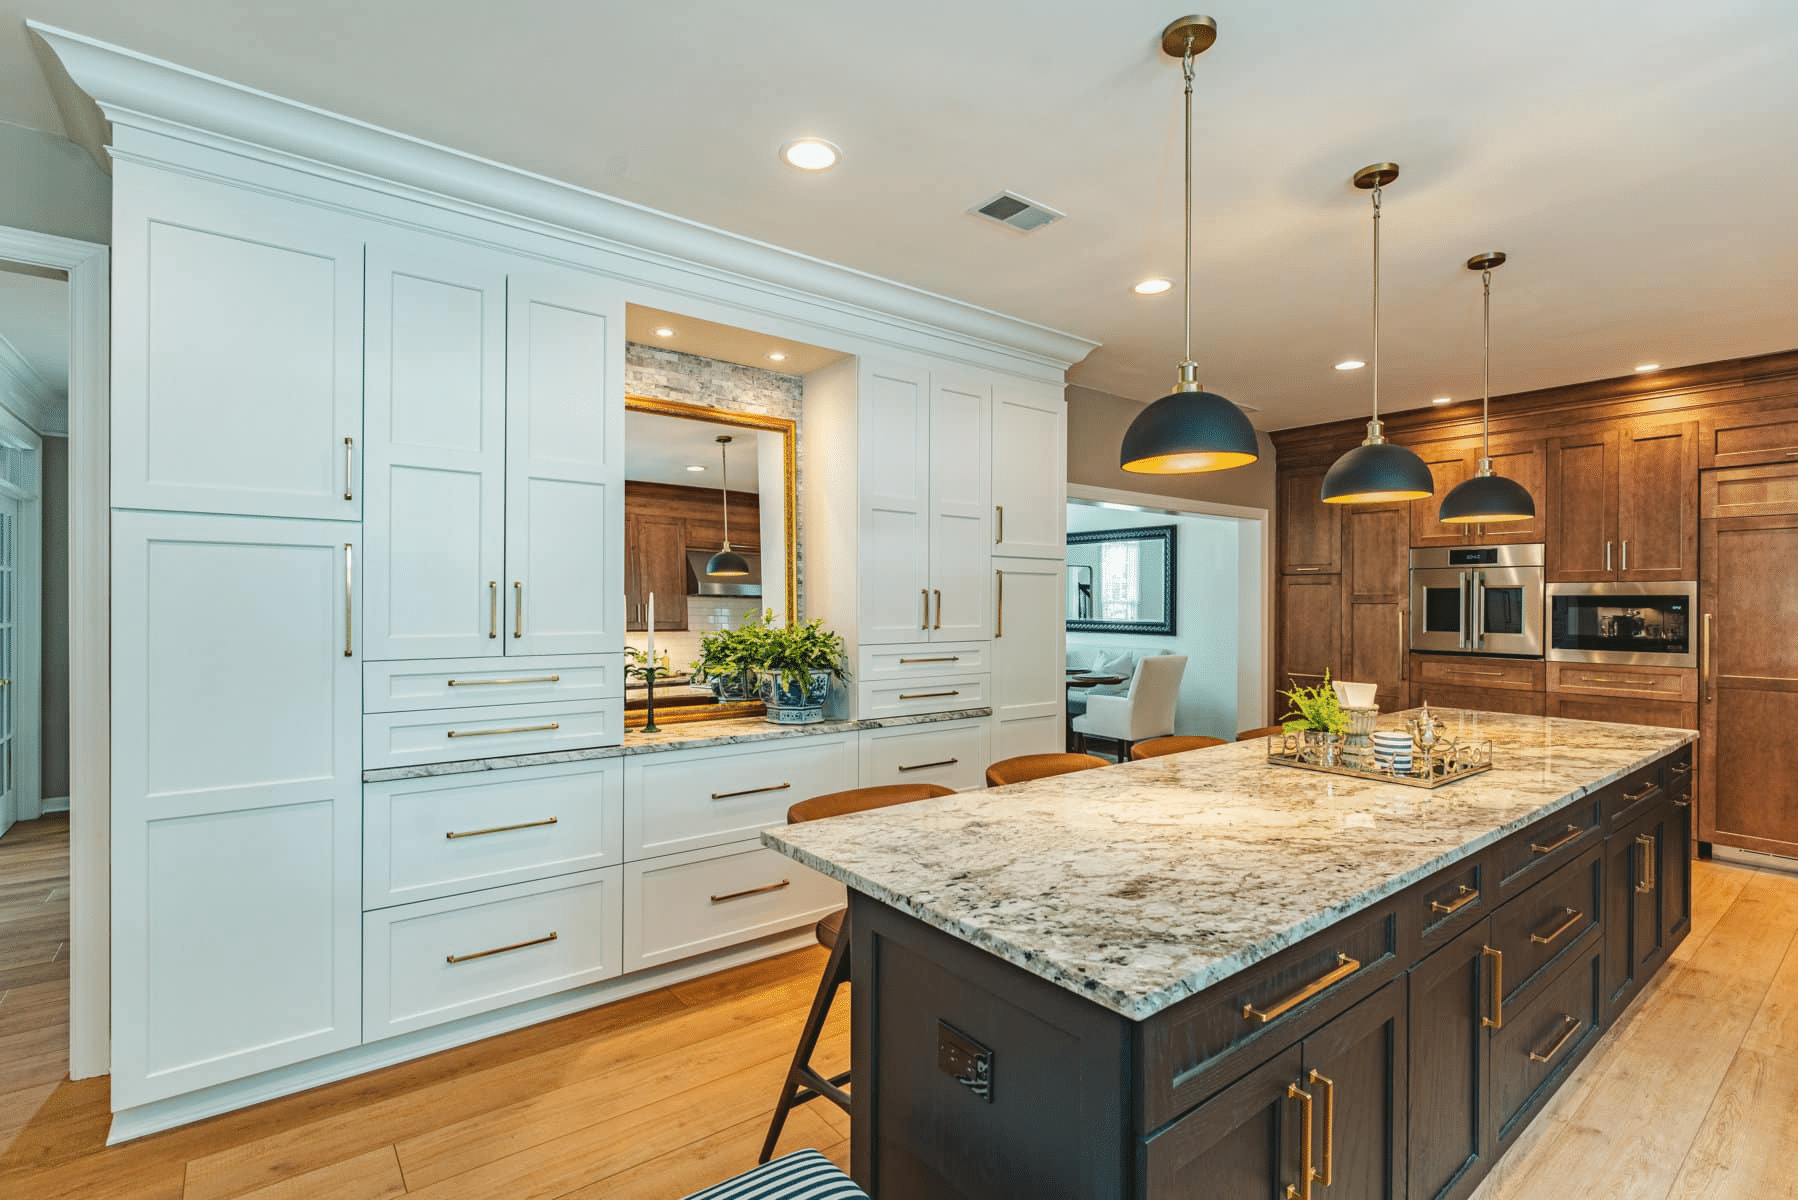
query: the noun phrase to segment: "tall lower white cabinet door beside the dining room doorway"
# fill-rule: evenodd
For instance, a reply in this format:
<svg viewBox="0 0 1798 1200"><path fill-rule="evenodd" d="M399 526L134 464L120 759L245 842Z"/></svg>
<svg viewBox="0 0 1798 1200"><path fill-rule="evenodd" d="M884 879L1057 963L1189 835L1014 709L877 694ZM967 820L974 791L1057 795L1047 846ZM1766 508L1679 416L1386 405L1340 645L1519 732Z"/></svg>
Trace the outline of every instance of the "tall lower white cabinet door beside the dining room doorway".
<svg viewBox="0 0 1798 1200"><path fill-rule="evenodd" d="M998 558L992 569L992 756L1054 754L1066 741L1066 567Z"/></svg>

